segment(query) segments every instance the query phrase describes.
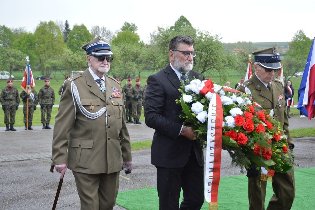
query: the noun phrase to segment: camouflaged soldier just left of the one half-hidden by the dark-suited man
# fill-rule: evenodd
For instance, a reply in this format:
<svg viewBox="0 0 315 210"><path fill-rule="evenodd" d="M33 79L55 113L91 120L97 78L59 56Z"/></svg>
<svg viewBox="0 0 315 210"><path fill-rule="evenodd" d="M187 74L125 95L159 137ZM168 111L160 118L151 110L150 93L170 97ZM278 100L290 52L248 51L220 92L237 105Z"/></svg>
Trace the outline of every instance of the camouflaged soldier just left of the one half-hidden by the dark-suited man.
<svg viewBox="0 0 315 210"><path fill-rule="evenodd" d="M142 111L142 101L143 101L143 87L140 86L140 78L136 79L136 85L132 86L130 89L130 96L132 97L132 115L133 124L141 124L139 121Z"/></svg>

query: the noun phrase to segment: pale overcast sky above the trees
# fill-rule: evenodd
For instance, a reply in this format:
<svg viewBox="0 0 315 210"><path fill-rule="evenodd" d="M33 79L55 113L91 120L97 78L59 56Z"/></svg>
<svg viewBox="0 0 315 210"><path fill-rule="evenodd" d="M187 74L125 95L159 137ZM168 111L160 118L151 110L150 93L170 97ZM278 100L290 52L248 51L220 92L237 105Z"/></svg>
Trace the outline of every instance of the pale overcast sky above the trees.
<svg viewBox="0 0 315 210"><path fill-rule="evenodd" d="M315 0L0 0L0 25L34 32L40 21L105 26L115 32L125 21L148 42L158 27L185 16L196 29L220 35L221 41L291 41L303 30L315 36Z"/></svg>

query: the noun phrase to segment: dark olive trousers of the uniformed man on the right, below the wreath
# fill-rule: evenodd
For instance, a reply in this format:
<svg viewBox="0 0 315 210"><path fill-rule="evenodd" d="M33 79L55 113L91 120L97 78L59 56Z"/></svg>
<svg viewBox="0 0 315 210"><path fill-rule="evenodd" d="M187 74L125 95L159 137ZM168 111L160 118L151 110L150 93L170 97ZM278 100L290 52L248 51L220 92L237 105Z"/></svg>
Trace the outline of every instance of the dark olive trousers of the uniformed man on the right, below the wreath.
<svg viewBox="0 0 315 210"><path fill-rule="evenodd" d="M249 210L265 210L267 181L260 181L260 175L248 178ZM294 171L275 172L272 178L274 194L267 210L290 210L295 197ZM257 190L261 189L261 190Z"/></svg>

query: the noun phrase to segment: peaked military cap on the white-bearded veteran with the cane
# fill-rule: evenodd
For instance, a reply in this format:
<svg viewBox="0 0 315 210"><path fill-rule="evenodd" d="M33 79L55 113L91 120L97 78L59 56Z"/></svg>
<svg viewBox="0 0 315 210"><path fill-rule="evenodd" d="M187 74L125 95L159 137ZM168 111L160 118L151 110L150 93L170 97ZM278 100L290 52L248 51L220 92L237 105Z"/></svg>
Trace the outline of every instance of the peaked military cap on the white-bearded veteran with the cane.
<svg viewBox="0 0 315 210"><path fill-rule="evenodd" d="M89 54L94 56L113 55L109 41L105 40L101 36L96 37L89 43L83 45L81 48L87 52L87 55Z"/></svg>

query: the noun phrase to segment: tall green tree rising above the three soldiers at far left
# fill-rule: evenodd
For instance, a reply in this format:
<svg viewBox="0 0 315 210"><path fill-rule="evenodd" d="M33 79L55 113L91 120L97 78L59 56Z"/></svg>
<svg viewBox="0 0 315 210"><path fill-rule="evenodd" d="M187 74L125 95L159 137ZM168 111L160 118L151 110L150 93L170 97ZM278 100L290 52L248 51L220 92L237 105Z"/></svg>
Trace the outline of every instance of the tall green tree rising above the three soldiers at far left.
<svg viewBox="0 0 315 210"><path fill-rule="evenodd" d="M52 69L46 68L45 63L54 59L65 50L65 44L60 28L53 22L40 22L34 36L37 41L35 52L39 58L40 70L43 74L50 75Z"/></svg>

